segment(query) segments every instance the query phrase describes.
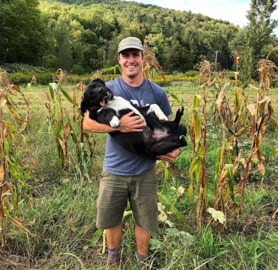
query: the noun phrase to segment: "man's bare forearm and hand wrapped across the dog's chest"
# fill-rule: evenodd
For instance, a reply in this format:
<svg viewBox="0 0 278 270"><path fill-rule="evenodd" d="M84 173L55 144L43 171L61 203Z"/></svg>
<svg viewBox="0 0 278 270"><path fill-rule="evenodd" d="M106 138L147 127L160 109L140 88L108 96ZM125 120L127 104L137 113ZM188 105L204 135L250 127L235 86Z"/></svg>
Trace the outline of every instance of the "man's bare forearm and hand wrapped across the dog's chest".
<svg viewBox="0 0 278 270"><path fill-rule="evenodd" d="M140 116L131 116L134 111L123 115L120 118L121 124L118 128L112 128L109 125L101 124L89 118L89 114L86 113L83 121L83 129L95 133L108 133L113 131L121 132L141 132L141 127L145 126L144 120Z"/></svg>

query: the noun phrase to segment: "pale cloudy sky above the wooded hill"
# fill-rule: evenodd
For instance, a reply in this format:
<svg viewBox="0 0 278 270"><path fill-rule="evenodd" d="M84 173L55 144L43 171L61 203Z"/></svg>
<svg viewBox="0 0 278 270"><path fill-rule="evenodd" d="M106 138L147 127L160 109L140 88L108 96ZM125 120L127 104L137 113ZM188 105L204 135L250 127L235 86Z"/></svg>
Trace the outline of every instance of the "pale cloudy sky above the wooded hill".
<svg viewBox="0 0 278 270"><path fill-rule="evenodd" d="M125 0L145 4L153 4L175 10L201 13L213 19L222 19L239 25L246 26L248 20L246 12L250 9L251 0ZM278 8L273 12L272 19L278 19ZM274 30L278 36L278 27Z"/></svg>

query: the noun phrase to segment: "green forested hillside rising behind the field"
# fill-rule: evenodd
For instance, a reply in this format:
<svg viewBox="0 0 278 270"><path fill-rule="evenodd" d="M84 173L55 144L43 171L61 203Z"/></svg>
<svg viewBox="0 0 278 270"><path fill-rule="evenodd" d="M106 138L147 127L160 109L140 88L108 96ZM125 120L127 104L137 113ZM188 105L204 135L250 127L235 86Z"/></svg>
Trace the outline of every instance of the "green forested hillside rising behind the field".
<svg viewBox="0 0 278 270"><path fill-rule="evenodd" d="M197 70L205 59L217 61L218 70L233 69L230 53L246 52L248 43L247 30L227 21L137 2L1 2L0 64L11 72L16 68L8 63L91 73L117 63L117 46L127 36L147 42L166 73ZM268 33L256 57L275 44ZM278 63L277 53L271 60Z"/></svg>

